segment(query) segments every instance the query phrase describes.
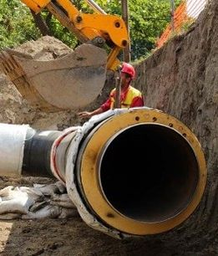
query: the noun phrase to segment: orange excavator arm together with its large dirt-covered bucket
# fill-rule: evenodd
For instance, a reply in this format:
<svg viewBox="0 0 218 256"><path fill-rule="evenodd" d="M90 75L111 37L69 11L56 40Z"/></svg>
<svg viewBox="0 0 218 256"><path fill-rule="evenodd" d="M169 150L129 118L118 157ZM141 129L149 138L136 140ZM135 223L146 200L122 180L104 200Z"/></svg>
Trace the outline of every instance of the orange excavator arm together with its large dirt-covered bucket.
<svg viewBox="0 0 218 256"><path fill-rule="evenodd" d="M31 105L46 111L78 109L93 102L103 89L107 69L129 43L122 18L108 15L85 0L94 13L81 13L70 0L21 0L35 14L48 9L81 44L72 54L43 61L12 49L0 53L0 68ZM90 44L91 43L91 44ZM101 49L107 44L111 51Z"/></svg>

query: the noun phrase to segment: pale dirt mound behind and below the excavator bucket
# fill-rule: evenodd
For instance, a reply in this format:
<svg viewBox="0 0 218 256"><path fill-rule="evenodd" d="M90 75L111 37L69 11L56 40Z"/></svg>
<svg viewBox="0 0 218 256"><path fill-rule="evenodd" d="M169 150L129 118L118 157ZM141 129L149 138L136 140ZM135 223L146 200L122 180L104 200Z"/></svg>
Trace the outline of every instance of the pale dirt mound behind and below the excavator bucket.
<svg viewBox="0 0 218 256"><path fill-rule="evenodd" d="M18 48L21 53L30 54L38 60L52 60L69 54L72 49L56 38L43 37L37 41L27 42ZM44 130L62 130L69 125L77 124L74 111L58 111L46 113L23 99L18 90L4 74L0 74L0 122L13 124L29 124L33 128Z"/></svg>

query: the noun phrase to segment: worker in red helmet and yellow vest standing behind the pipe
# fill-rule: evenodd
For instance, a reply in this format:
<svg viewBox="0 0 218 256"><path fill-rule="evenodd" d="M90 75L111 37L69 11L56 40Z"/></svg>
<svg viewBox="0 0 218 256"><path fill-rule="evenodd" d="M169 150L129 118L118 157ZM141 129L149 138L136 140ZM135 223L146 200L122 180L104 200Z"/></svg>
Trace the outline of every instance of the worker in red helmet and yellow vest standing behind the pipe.
<svg viewBox="0 0 218 256"><path fill-rule="evenodd" d="M144 100L142 94L139 90L132 87L131 81L134 79L135 70L134 67L130 64L124 63L122 65L121 73L120 73L120 84L121 84L121 92L120 92L120 104L121 108L134 108L144 105ZM114 88L109 95L109 99L104 102L97 110L88 112L80 112L80 117L91 117L93 115L101 114L107 110L114 109L114 102L116 96L116 89Z"/></svg>

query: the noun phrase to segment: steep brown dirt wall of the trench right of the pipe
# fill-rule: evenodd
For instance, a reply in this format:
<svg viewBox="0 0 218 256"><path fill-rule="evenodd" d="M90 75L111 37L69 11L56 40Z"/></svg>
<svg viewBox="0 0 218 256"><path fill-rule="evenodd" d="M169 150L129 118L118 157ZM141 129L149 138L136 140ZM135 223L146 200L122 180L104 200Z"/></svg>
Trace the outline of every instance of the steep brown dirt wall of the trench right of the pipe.
<svg viewBox="0 0 218 256"><path fill-rule="evenodd" d="M205 152L208 182L192 219L195 223L188 222L193 231L217 231L218 225L217 28L218 2L212 1L187 33L175 37L136 66L135 87L143 91L145 105L183 121L194 131Z"/></svg>

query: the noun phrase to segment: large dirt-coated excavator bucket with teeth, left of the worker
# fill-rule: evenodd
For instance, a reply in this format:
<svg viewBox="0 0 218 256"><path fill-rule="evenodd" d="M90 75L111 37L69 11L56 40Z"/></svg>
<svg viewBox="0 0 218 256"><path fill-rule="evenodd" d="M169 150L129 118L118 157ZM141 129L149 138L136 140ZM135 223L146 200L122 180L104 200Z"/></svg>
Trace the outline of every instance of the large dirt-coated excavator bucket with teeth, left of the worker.
<svg viewBox="0 0 218 256"><path fill-rule="evenodd" d="M107 54L92 44L82 44L63 58L35 60L6 49L0 54L4 74L23 98L42 110L72 110L89 105L103 89Z"/></svg>

